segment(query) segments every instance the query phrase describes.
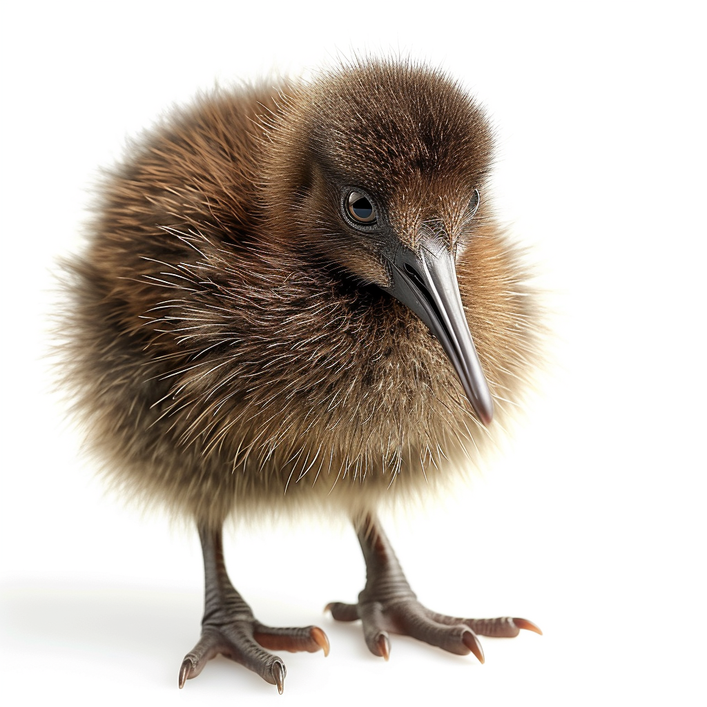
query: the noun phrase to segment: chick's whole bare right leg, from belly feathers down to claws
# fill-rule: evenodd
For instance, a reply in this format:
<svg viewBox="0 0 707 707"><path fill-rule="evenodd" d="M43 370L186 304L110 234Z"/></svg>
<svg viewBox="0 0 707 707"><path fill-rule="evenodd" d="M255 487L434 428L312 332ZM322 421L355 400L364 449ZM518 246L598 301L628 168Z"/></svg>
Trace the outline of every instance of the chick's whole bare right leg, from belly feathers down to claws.
<svg viewBox="0 0 707 707"><path fill-rule="evenodd" d="M357 604L334 602L327 609L338 621L361 619L363 637L373 655L388 660L389 631L438 645L450 653L474 653L481 662L484 651L477 634L512 638L520 629L542 633L527 619L457 619L430 611L417 601L378 520L366 517L357 532L366 560L366 588L358 595Z"/></svg>

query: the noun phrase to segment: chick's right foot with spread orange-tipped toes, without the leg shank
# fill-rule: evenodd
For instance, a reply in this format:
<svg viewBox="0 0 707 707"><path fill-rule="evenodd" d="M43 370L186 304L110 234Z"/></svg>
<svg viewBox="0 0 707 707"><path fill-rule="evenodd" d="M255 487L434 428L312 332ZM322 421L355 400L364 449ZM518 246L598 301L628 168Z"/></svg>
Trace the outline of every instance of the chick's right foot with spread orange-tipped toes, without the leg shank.
<svg viewBox="0 0 707 707"><path fill-rule="evenodd" d="M361 592L361 595L364 594L365 591ZM420 604L409 590L402 596L360 596L358 604L333 602L327 605L327 609L337 621L361 619L368 649L385 660L390 657L389 631L437 645L457 655L474 653L481 662L484 662L484 650L477 636L513 638L518 636L520 629L542 634L527 619L458 619L438 614Z"/></svg>

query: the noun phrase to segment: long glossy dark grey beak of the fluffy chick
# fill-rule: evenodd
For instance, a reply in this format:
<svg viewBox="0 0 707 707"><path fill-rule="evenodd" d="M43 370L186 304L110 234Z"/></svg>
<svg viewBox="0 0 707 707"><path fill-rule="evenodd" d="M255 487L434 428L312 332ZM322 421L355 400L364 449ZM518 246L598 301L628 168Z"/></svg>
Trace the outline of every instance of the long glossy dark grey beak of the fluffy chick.
<svg viewBox="0 0 707 707"><path fill-rule="evenodd" d="M385 289L415 312L437 337L474 412L488 426L493 419L493 399L469 332L448 246L425 238L415 252L401 244L389 262L392 285Z"/></svg>

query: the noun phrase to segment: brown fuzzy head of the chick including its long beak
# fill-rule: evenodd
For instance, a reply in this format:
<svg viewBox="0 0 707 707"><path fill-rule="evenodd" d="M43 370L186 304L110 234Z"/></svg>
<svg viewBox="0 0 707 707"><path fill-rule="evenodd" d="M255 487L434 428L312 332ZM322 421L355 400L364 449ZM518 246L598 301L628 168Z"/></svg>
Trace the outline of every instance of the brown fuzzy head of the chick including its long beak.
<svg viewBox="0 0 707 707"><path fill-rule="evenodd" d="M360 62L296 86L268 128L264 194L281 239L415 312L488 425L455 268L491 160L483 112L440 71Z"/></svg>

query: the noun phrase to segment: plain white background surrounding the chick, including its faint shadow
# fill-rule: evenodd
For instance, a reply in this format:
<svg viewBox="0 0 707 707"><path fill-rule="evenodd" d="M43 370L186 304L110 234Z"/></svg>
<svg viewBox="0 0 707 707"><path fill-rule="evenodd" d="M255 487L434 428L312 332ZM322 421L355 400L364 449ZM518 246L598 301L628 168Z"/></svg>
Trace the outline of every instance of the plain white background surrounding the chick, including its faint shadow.
<svg viewBox="0 0 707 707"><path fill-rule="evenodd" d="M697 704L704 700L705 67L700 3L15 4L3 11L0 491L7 704ZM228 534L262 621L317 623L285 694L218 658L177 690L201 618L196 534L106 496L49 395L59 255L127 136L218 79L427 59L498 127L496 206L557 312L554 366L508 450L447 503L386 518L423 602L527 617L486 665L355 624L344 522Z"/></svg>

